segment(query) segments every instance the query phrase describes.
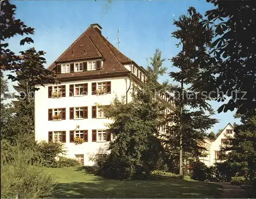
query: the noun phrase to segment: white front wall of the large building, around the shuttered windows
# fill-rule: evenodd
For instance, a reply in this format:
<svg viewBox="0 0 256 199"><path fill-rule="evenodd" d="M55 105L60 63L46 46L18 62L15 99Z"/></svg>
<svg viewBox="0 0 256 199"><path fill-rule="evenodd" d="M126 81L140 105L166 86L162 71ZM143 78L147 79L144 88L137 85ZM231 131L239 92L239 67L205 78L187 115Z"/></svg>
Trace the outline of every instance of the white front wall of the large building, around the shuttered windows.
<svg viewBox="0 0 256 199"><path fill-rule="evenodd" d="M111 94L106 95L92 95L92 82L111 81ZM74 83L88 83L88 95L81 97L69 97L69 85ZM129 87L130 80L127 77L105 78L96 80L84 80L73 82L62 82L61 85L66 84L66 97L63 98L48 98L48 86L53 84L46 84L45 87L37 86L39 88L35 93L35 139L36 141L48 141L48 131L66 131L66 147L67 156L75 157L75 154L84 154L84 164L93 165L89 158L96 153L106 152L108 142L92 142L92 129L106 129L105 123L110 121L107 119L92 118L92 106L95 102L107 105L112 99L117 96L126 95L126 89ZM131 98L129 97L129 100ZM69 108L75 106L88 106L88 119L70 120ZM66 108L66 120L48 121L49 108ZM80 145L69 143L69 132L74 130L76 125L80 128L76 130L88 130L88 142Z"/></svg>

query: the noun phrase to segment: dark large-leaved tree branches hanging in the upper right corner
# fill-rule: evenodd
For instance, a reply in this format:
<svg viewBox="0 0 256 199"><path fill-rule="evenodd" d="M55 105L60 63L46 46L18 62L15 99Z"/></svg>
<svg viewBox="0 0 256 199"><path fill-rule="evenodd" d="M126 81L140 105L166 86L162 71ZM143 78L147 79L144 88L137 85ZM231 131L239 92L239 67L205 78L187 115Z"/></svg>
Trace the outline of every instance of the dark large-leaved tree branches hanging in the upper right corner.
<svg viewBox="0 0 256 199"><path fill-rule="evenodd" d="M218 101L230 97L219 107L219 113L234 108L238 114L247 113L256 108L255 2L235 1L232 6L228 1L207 2L213 3L215 9L206 12L202 25L213 28L215 40L211 43L207 70L198 75L195 88L214 91Z"/></svg>

